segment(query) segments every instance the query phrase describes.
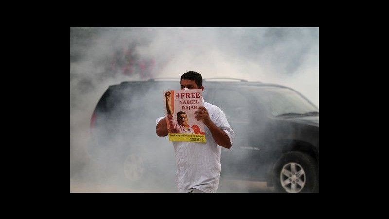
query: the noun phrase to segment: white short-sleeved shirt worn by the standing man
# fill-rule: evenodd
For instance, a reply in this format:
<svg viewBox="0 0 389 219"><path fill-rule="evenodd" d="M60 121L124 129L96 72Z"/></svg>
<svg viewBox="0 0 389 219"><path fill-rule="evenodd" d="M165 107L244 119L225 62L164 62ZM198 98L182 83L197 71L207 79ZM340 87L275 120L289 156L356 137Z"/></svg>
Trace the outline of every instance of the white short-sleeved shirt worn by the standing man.
<svg viewBox="0 0 389 219"><path fill-rule="evenodd" d="M226 115L219 107L204 102L210 119L217 127L227 133L231 144L235 133L230 128ZM158 118L156 124L161 119ZM217 145L207 126L204 126L206 143L173 141L176 155L176 183L179 192L190 192L192 188L203 192L216 192L220 178L221 146Z"/></svg>

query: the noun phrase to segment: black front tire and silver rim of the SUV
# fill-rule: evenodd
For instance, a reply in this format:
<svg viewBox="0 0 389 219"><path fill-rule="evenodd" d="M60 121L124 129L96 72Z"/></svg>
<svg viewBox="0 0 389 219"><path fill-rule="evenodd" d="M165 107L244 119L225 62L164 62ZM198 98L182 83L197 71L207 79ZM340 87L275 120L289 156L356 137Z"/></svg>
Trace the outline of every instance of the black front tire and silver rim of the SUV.
<svg viewBox="0 0 389 219"><path fill-rule="evenodd" d="M318 164L310 155L291 151L278 159L274 168L275 188L279 192L318 192Z"/></svg>

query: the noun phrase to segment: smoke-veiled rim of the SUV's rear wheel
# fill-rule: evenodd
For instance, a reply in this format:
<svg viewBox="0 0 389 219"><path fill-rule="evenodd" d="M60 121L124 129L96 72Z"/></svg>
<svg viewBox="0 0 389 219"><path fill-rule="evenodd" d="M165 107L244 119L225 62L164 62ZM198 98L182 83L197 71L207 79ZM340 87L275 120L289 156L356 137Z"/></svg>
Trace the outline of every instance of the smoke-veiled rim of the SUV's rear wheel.
<svg viewBox="0 0 389 219"><path fill-rule="evenodd" d="M124 175L128 180L137 181L144 172L142 158L137 154L130 154L124 161Z"/></svg>

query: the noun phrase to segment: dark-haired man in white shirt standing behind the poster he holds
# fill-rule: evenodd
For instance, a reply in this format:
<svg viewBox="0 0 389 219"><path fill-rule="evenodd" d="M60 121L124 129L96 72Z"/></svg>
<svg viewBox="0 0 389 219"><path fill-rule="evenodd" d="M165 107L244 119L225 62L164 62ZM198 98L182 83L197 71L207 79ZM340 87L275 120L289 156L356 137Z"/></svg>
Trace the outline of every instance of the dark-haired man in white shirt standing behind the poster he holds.
<svg viewBox="0 0 389 219"><path fill-rule="evenodd" d="M193 71L181 76L182 89L204 90L201 74ZM207 103L195 111L198 121L204 123L206 143L173 141L176 155L176 183L179 192L216 192L220 178L221 147L231 148L234 131L219 107ZM165 117L158 118L157 135L167 136Z"/></svg>

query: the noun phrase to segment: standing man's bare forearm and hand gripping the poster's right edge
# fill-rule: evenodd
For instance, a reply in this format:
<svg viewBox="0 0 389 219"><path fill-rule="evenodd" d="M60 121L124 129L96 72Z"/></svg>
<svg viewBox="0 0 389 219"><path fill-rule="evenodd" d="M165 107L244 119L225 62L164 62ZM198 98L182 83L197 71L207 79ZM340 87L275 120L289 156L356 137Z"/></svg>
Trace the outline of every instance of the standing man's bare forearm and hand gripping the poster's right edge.
<svg viewBox="0 0 389 219"><path fill-rule="evenodd" d="M195 113L197 114L195 117L197 118L197 121L199 120L203 121L204 125L206 125L208 129L210 129L213 139L215 139L218 145L230 149L232 144L230 142L230 138L228 137L227 133L224 132L219 127L217 127L216 124L212 122L208 114L208 110L205 107L200 106L198 107L198 109L200 110L195 111Z"/></svg>

